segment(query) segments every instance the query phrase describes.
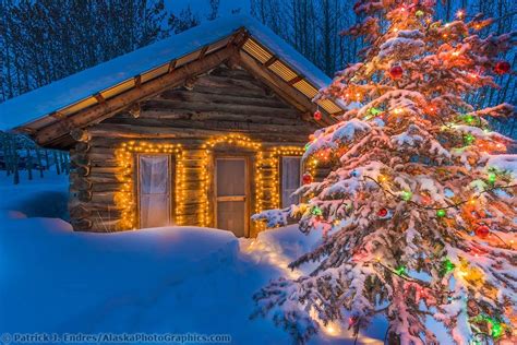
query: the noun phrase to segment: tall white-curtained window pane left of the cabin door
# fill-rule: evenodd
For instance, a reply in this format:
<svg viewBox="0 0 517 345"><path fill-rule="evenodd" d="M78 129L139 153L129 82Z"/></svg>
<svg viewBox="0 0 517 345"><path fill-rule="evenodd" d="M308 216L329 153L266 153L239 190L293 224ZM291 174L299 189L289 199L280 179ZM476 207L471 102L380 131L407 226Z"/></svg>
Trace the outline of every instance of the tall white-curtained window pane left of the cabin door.
<svg viewBox="0 0 517 345"><path fill-rule="evenodd" d="M140 227L171 225L170 157L139 155Z"/></svg>

